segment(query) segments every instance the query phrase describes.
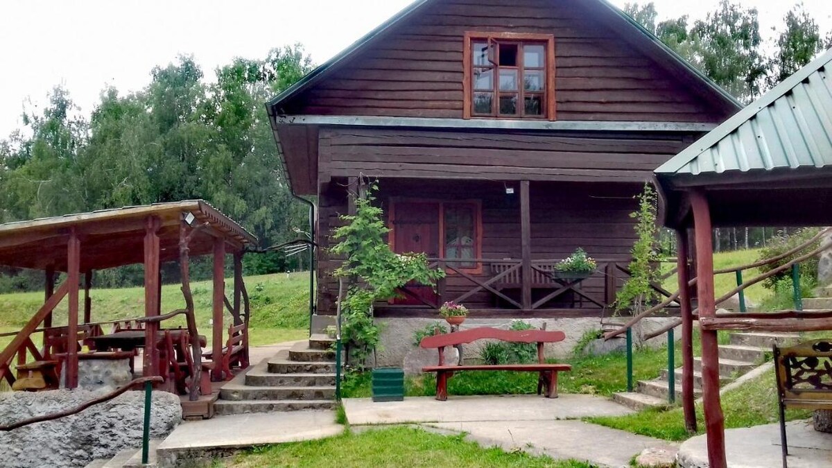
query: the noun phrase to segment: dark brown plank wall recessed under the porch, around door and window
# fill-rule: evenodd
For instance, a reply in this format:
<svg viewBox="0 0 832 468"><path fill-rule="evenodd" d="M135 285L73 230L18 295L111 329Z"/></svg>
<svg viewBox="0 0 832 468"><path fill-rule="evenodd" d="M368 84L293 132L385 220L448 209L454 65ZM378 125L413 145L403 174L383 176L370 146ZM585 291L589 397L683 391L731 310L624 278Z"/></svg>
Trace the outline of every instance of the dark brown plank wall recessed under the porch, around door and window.
<svg viewBox="0 0 832 468"><path fill-rule="evenodd" d="M514 195L506 194L507 183L498 181L453 181L382 179L378 202L388 212L391 198L418 198L444 201L475 199L482 202L482 258L519 259L520 206L517 182ZM530 208L532 222L532 259L559 260L577 247L598 259L626 262L635 235L629 216L636 209L634 196L641 185L634 183L601 184L573 182L532 182ZM334 180L319 194L319 243L330 246L330 229L339 225L339 214L347 211L344 182ZM323 252L323 249L321 250ZM318 306L321 314L334 313L338 281L330 273L339 266L337 259L322 253L319 263ZM488 266L478 277L491 275ZM460 295L474 285L458 275L446 279L446 291ZM582 290L604 298L604 278L593 276L584 281ZM493 308L497 303L490 293L482 292L468 301L473 308Z"/></svg>

